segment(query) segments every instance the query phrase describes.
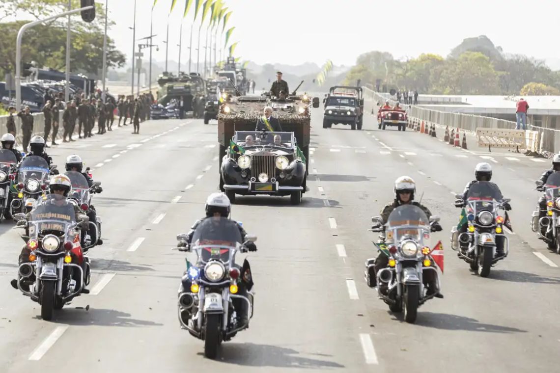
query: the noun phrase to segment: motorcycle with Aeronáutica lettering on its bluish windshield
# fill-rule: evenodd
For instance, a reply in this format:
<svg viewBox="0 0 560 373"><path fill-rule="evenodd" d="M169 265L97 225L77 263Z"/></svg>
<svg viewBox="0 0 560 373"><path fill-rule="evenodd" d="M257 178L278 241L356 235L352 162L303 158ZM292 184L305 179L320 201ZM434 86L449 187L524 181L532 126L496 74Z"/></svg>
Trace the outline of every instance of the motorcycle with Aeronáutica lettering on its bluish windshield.
<svg viewBox="0 0 560 373"><path fill-rule="evenodd" d="M43 157L30 155L23 159L17 171L15 196L10 204L11 214L29 213L33 205L47 189L50 173L56 173L56 166L49 168Z"/></svg>

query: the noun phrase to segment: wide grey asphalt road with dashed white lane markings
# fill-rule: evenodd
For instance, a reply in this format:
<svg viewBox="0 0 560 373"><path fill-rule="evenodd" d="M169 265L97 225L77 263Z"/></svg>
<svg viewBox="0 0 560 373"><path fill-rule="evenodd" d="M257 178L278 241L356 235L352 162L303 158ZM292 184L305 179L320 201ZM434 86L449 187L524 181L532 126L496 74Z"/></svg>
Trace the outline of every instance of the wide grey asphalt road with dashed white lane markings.
<svg viewBox="0 0 560 373"><path fill-rule="evenodd" d="M45 322L38 304L9 284L23 241L12 223L0 225L0 371L557 371L560 257L529 228L539 197L533 180L548 163L380 131L369 114L362 131L321 128L320 108L312 116L302 204L238 197L233 206L232 217L258 235L259 251L249 254L255 313L216 361L179 327L184 254L171 251L217 189L216 122L149 121L140 135L127 126L50 150L60 168L72 153L94 168L104 188L94 204L105 243L90 252L91 294ZM512 199L516 232L510 256L489 278L473 275L449 244L459 216L452 193L483 159ZM416 324L391 314L363 281L363 262L376 255L370 218L393 199L403 174L444 227L432 244L444 243L445 299L423 305Z"/></svg>

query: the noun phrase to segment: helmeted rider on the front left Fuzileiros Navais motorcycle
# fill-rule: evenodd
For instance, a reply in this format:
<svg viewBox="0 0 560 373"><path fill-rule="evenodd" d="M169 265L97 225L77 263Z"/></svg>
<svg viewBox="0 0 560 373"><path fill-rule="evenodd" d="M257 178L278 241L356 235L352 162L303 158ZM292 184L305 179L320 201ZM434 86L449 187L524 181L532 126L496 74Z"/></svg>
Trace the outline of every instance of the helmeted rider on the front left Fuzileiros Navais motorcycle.
<svg viewBox="0 0 560 373"><path fill-rule="evenodd" d="M66 200L66 197L68 197L70 191L72 190L72 183L70 182L70 179L68 178L68 176L66 175L55 175L52 178L50 178L50 183L49 183L49 191L50 194L53 195L53 199L50 200L48 203L54 203L55 205L58 206L63 206L66 204L69 204L70 202L68 202ZM78 206L74 206L74 221L81 221L83 220L83 223L87 224L87 216L82 214L82 211L80 210L80 207ZM30 213L27 214L26 216L26 220L29 221L30 219ZM18 225L20 225L20 223L18 223ZM27 231L27 229L26 229ZM82 228L82 234L83 234L83 228ZM29 237L29 233L26 232L26 235ZM31 253L31 250L27 247L27 244L24 244L24 247L21 249L21 253L20 253L20 257L18 259L18 264L21 265L22 263L28 263L29 262L29 254ZM86 262L85 260L82 262L82 270L83 273L86 273ZM82 278L83 280L83 278ZM22 289L24 289L25 291L29 291L29 285L32 284L35 281L35 276L31 275L31 277L25 279L22 278L21 279L21 287ZM12 285L12 287L14 289L18 289L17 288L17 279L13 279L10 284ZM79 284L78 284L79 285ZM85 294L88 294L90 291L88 289L86 289L86 286L83 286L82 292Z"/></svg>

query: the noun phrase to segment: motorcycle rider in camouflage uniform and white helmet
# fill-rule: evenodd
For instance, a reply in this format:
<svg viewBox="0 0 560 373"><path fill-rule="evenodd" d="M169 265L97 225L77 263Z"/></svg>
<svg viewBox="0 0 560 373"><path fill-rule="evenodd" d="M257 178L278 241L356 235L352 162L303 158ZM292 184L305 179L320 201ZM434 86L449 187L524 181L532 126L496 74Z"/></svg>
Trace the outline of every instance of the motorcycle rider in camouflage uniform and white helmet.
<svg viewBox="0 0 560 373"><path fill-rule="evenodd" d="M401 176L398 179L396 179L394 192L395 192L395 200L391 202L389 205L383 207L383 209L381 210L381 225L385 225L387 223L387 220L389 219L389 215L393 212L393 210L396 209L396 207L402 205L413 205L413 206L420 207L422 211L424 211L424 213L426 214L427 218L430 219L430 216L432 215L430 210L428 210L426 206L419 204L419 202L414 201L414 193L416 193L416 182L414 182L414 180L412 180L411 177ZM435 230L435 232L440 232L442 229L441 225L437 222L432 224L432 228L433 230ZM374 264L375 264L374 273L370 275L371 278L370 281L373 284L373 287L376 285L377 282L377 272L382 268L386 268L388 266L389 257L383 253L380 253L375 258ZM433 276L434 275L432 271L428 271L424 273L423 276L424 283L427 283L428 285L427 295L432 295L433 293L436 293L435 295L436 298L444 298L444 295L441 294L440 289L437 289L437 282ZM386 284L381 284L380 286L381 286L380 290L382 292L386 291L387 288Z"/></svg>

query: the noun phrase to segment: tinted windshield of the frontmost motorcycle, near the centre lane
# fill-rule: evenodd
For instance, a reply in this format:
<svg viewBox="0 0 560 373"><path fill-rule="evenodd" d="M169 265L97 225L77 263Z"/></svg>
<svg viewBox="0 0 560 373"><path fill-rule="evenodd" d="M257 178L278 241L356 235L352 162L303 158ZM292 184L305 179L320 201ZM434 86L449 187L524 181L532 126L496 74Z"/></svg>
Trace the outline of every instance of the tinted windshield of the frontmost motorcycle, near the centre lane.
<svg viewBox="0 0 560 373"><path fill-rule="evenodd" d="M198 252L199 260L208 262L217 259L222 262L230 260L230 252L242 244L239 226L227 218L206 218L194 230L193 249Z"/></svg>

